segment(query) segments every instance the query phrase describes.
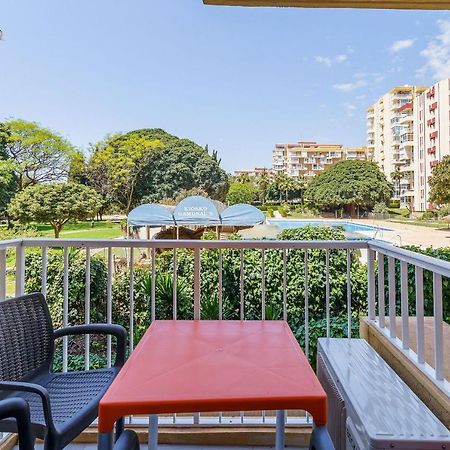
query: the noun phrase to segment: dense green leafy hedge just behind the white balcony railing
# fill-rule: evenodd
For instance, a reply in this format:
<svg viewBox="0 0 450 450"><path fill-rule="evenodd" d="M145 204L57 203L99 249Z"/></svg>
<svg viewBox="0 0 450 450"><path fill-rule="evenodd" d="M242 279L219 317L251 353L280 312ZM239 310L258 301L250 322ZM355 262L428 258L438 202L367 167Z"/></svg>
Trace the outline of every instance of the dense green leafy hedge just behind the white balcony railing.
<svg viewBox="0 0 450 450"><path fill-rule="evenodd" d="M206 234L206 239L215 234ZM238 239L236 236L233 239ZM341 230L328 227L304 227L283 231L281 240L343 240ZM326 317L325 307L325 250L308 250L308 315L311 323L321 324ZM353 318L366 313L367 275L356 252L350 260L351 301ZM262 318L262 251L243 250L244 318ZM223 318L240 318L240 250L223 249L222 302ZM194 253L177 250L177 311L173 311L173 253L165 251L156 256L155 309L157 319L193 318ZM69 324L85 320L85 267L86 257L82 250L69 254ZM346 322L347 318L347 253L330 250L330 316L333 320ZM219 318L219 251L201 252L201 318ZM269 249L264 252L265 318L280 319L283 312L283 251ZM41 255L26 256L26 291L41 290ZM62 326L63 311L63 253L48 253L47 301L55 324ZM288 322L300 336L305 322L305 251L286 251L286 309ZM91 258L91 322L106 322L107 269L104 259ZM136 344L150 324L151 318L151 269L137 265L134 270L134 343ZM112 319L130 329L130 275L128 269L116 273L112 286ZM340 323L340 322L339 322ZM316 327L317 328L317 327ZM345 328L345 327L344 327ZM333 330L340 333L339 327ZM325 329L322 330L325 334ZM342 332L343 333L343 332ZM342 334L341 333L341 334ZM83 348L80 348L80 352Z"/></svg>

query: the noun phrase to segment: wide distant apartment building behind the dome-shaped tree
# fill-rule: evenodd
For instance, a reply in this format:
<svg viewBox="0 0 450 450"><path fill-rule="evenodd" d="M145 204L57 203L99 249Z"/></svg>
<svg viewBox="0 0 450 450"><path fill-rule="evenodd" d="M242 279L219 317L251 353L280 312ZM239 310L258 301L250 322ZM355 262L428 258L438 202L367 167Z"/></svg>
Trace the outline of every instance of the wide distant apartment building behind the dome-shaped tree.
<svg viewBox="0 0 450 450"><path fill-rule="evenodd" d="M371 159L367 147L345 148L341 144L318 144L300 141L276 144L272 150L274 172L286 172L289 176L311 178L328 167L346 159Z"/></svg>

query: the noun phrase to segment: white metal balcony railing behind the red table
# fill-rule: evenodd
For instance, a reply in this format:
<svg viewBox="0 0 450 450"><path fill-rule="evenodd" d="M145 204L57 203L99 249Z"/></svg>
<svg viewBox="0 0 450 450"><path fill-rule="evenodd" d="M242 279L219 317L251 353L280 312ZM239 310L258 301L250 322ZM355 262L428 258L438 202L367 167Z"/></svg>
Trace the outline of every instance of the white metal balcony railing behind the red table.
<svg viewBox="0 0 450 450"><path fill-rule="evenodd" d="M74 299L71 298L71 252L82 252L84 255L84 293L82 302L76 303L78 315L81 314L84 323L90 323L93 314L91 302L93 289L94 259L103 261L105 274L105 289L102 301L102 311L105 322L112 323L119 308L124 305L115 303L114 282L119 272L126 277L126 314L129 315L127 328L129 332L129 351L132 352L136 340L139 338L137 324L142 327L142 311L136 305L142 304L141 291L136 283L141 283L142 273L145 274L150 286L147 289L148 322L159 318L161 292L158 291L158 270L164 267L167 284L171 288L171 305L166 308L170 318L180 319L203 318L207 307L211 308L210 299L205 298L202 287L209 286L208 295L212 295L211 286L217 301L216 309L212 308L219 320L234 319L284 319L291 323L292 311L302 311L302 317L296 316L295 327L303 349L310 355L316 344L317 337L324 335L333 337L335 327L333 320L337 315L345 317L346 333L352 335L352 325L358 316L367 315L372 323L397 345L404 354L413 361L427 376L442 390L450 393L449 382L444 377L444 345L443 323L444 311L448 312L450 298L444 298L443 283L449 286L450 263L435 258L423 256L411 251L403 250L389 244L370 240L342 240L342 241L279 241L279 240L200 240L200 241L172 241L172 240L77 240L77 239L17 239L0 242L0 299L21 295L25 292L27 282L28 255L38 255L40 260L40 289L44 295L49 287L49 259L57 253L62 259L62 311L61 325L70 326L71 311ZM205 259L208 252L213 252L214 258ZM161 265L161 255L166 255ZM252 255L251 258L248 255ZM339 255L339 261L337 258ZM294 258L295 257L295 258ZM202 259L203 258L203 259ZM353 262L358 261L364 272L354 271ZM274 262L275 261L275 262ZM170 264L169 264L170 262ZM226 262L226 264L225 264ZM202 263L208 264L202 270ZM77 260L80 264L80 260ZM248 267L249 265L252 267ZM319 269L317 269L319 264ZM258 274L255 275L255 265ZM313 267L314 265L314 267ZM121 266L121 267L120 267ZM170 267L169 267L170 266ZM187 267L191 270L191 277L186 277ZM232 266L233 274L230 275ZM337 268L339 271L337 272ZM169 275L167 270L170 269ZM253 269L249 276L249 270ZM210 276L204 279L205 272ZM184 273L183 280L180 273ZM411 276L413 273L414 276ZM430 275L431 274L431 275ZM366 279L362 284L358 278ZM431 278L430 278L431 276ZM138 279L138 277L141 277ZM230 278L231 277L231 278ZM320 280L318 280L320 278ZM432 279L432 297L429 286L425 286L424 279ZM166 280L167 281L167 280ZM55 283L54 280L51 281ZM187 292L190 299L181 305L180 285L189 284ZM340 284L339 284L340 283ZM428 283L428 281L427 281ZM230 287L230 284L232 286ZM296 285L301 285L299 291L293 291ZM274 288L276 285L276 288ZM167 287L166 286L166 287ZM319 286L319 287L318 287ZM337 286L340 286L339 289ZM357 286L365 286L364 308L358 305L355 297ZM231 289L231 291L230 291ZM250 292L251 289L251 292ZM236 297L231 299L235 308L227 310L230 298L229 292ZM414 295L411 295L411 292ZM448 293L445 290L445 293ZM202 295L203 294L203 295ZM357 294L360 295L360 294ZM249 304L249 297L253 303ZM340 301L336 303L336 298ZM255 303L258 298L258 303ZM78 299L79 300L79 299ZM342 311L336 312L336 304ZM430 306L431 305L431 306ZM167 305L166 305L167 306ZM311 317L316 318L317 307L322 308L323 331L311 330ZM98 308L99 305L96 305ZM183 313L181 314L181 307ZM203 309L202 309L203 307ZM186 312L186 308L190 309ZM429 364L425 359L425 331L424 321L426 313L432 309L434 325L434 361ZM275 312L274 312L275 311ZM184 316L183 316L184 314ZM123 316L123 311L122 311ZM410 317L415 317L415 351L410 342ZM212 318L211 313L207 318ZM401 321L400 333L397 333L396 321ZM448 320L448 317L447 317ZM83 343L84 367L92 366L91 356L94 338L86 336ZM105 344L106 364L111 364L114 345L109 338ZM63 340L62 370L69 370L70 342ZM288 415L288 424L304 423L308 417L302 413ZM133 418L139 423L140 418ZM274 424L275 415L262 412L216 415L178 415L162 418L161 422L170 423L222 423L222 424Z"/></svg>

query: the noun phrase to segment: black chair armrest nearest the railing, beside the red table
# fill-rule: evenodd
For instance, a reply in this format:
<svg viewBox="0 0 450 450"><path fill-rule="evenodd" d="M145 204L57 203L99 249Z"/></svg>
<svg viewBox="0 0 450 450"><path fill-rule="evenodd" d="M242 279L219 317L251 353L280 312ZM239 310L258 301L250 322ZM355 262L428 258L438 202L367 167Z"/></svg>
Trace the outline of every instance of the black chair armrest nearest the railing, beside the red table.
<svg viewBox="0 0 450 450"><path fill-rule="evenodd" d="M55 339L80 334L109 334L115 336L117 338L117 347L114 367L122 367L125 364L127 332L124 327L109 323L92 323L89 325L74 325L72 327L61 328L53 333Z"/></svg>

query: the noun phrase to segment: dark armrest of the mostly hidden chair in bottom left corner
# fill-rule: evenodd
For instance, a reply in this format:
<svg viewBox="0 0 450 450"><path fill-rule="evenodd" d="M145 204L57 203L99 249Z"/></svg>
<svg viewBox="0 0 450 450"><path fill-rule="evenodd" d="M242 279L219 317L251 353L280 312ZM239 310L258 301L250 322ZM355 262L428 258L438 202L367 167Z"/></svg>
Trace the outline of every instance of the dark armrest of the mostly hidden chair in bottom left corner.
<svg viewBox="0 0 450 450"><path fill-rule="evenodd" d="M30 408L20 397L0 400L0 419L13 417L19 433L19 450L33 450L34 439L31 433Z"/></svg>

